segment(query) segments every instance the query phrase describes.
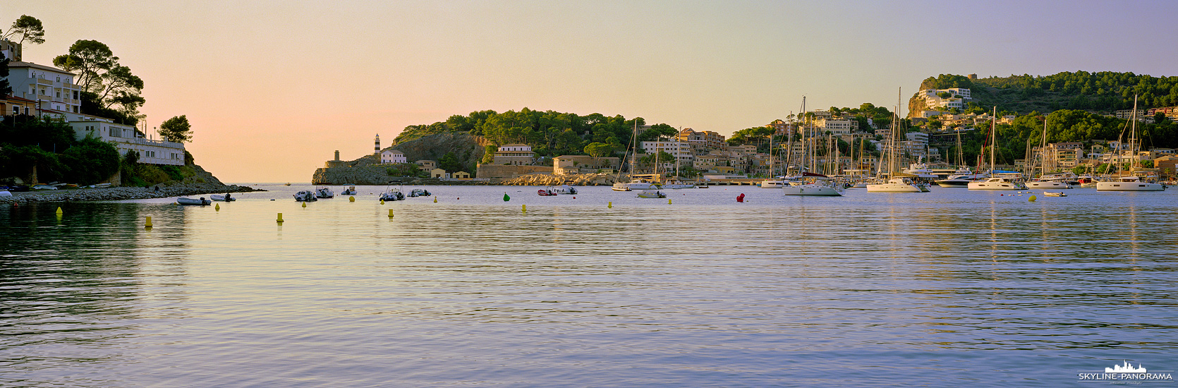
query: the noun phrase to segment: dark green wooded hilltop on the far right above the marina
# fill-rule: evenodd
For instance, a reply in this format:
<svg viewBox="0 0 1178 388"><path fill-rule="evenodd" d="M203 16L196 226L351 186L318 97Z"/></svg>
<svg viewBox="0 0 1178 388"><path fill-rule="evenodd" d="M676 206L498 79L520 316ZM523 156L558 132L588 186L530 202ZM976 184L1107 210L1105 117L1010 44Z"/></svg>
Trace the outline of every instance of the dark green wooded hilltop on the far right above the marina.
<svg viewBox="0 0 1178 388"><path fill-rule="evenodd" d="M980 79L940 74L920 84L920 90L951 87L969 88L973 94L969 107L977 112L998 106L999 111L1013 114L1058 110L1108 113L1132 108L1133 94L1139 96L1139 108L1178 105L1178 77L1085 71ZM909 112L920 110L915 97L909 99L908 108Z"/></svg>

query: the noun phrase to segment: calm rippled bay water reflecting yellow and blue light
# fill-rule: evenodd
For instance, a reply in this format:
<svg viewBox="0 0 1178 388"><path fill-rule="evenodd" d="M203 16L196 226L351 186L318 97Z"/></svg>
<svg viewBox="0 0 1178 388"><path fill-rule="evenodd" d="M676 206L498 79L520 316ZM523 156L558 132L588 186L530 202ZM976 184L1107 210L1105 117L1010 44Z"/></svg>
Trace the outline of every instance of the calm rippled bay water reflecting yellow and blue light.
<svg viewBox="0 0 1178 388"><path fill-rule="evenodd" d="M1178 190L713 186L668 204L430 186L382 205L362 186L302 208L310 186L263 186L219 211L0 209L0 383L1023 387L1123 360L1178 369Z"/></svg>

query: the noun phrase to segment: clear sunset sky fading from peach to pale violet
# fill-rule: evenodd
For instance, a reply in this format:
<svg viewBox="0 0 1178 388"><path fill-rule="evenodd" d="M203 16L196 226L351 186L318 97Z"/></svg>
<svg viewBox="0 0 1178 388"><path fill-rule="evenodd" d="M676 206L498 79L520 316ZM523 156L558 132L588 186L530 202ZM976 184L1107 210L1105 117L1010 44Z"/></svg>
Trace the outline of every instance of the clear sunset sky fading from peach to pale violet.
<svg viewBox="0 0 1178 388"><path fill-rule="evenodd" d="M734 131L889 108L938 74L1178 75L1173 1L19 1L24 59L98 40L144 79L150 129L226 183L307 183L408 125L528 107ZM148 130L151 131L151 130Z"/></svg>

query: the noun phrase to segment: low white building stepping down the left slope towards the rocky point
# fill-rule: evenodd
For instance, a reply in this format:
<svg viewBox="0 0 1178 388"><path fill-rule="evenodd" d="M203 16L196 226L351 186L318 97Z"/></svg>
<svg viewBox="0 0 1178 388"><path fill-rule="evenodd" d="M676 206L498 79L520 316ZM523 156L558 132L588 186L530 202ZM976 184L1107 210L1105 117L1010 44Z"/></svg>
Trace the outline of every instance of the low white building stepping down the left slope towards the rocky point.
<svg viewBox="0 0 1178 388"><path fill-rule="evenodd" d="M74 137L84 139L86 136L99 140L110 142L119 150L119 154L128 151L139 152L139 163L184 165L184 144L164 140L147 139L143 131L134 126L114 124L110 119L85 116L68 114L68 121L74 130Z"/></svg>

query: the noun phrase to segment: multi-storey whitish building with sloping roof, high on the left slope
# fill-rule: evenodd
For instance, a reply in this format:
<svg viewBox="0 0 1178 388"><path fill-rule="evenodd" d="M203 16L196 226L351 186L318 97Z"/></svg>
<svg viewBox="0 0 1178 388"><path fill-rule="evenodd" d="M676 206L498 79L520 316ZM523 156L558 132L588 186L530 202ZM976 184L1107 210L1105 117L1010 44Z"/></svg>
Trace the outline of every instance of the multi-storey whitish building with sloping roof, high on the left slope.
<svg viewBox="0 0 1178 388"><path fill-rule="evenodd" d="M81 107L81 86L71 72L25 61L8 63L8 85L15 97L35 100L41 110L78 113Z"/></svg>

